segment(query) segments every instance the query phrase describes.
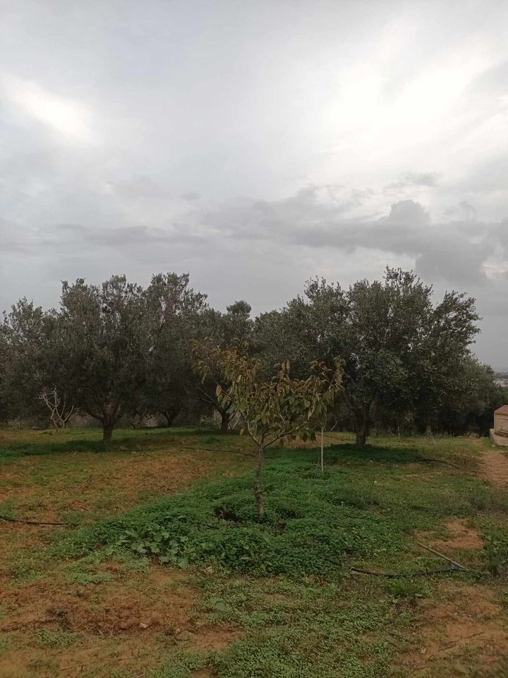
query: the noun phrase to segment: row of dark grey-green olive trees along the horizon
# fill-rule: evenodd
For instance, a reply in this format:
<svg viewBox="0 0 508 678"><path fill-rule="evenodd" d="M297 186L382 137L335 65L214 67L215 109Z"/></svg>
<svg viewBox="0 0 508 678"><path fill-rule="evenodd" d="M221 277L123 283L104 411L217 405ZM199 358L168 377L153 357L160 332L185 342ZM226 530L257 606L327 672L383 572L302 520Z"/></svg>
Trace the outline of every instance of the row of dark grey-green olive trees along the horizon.
<svg viewBox="0 0 508 678"><path fill-rule="evenodd" d="M341 393L327 425L356 432L487 434L504 393L471 352L478 333L474 299L387 268L381 281L310 280L303 295L253 319L238 301L222 313L190 286L187 274L154 275L143 288L115 275L102 285L64 282L59 307L20 299L0 327L0 419L30 417L60 429L82 413L104 440L125 417L199 422L216 412L222 430L235 413L232 346L256 361L256 380L272 383L289 360L294 379L309 365L341 366ZM207 369L195 347L209 346ZM194 347L194 348L193 348ZM338 361L338 363L337 363Z"/></svg>

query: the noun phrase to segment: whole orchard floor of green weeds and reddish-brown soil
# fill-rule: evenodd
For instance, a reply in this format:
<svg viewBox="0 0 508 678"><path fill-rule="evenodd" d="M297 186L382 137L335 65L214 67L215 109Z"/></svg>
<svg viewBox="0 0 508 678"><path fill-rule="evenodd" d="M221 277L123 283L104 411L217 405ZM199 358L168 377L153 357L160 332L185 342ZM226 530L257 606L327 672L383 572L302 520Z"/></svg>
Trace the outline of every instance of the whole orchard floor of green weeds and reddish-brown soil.
<svg viewBox="0 0 508 678"><path fill-rule="evenodd" d="M0 675L507 677L488 441L326 441L270 453L259 523L235 434L0 432L0 515L66 523L0 521Z"/></svg>

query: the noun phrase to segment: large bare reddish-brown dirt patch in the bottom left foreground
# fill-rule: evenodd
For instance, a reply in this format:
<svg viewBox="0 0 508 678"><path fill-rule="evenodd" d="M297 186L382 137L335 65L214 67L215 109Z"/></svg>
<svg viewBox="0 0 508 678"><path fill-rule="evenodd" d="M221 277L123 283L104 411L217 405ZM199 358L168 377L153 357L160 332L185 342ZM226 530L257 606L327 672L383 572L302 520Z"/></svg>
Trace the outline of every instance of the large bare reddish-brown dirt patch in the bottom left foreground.
<svg viewBox="0 0 508 678"><path fill-rule="evenodd" d="M122 576L114 563L105 571L116 572L116 578L80 585L47 577L0 592L5 611L0 632L16 647L0 656L2 677L53 678L65 672L74 678L99 667L101 675L121 667L129 672L140 667L143 674L175 645L217 650L238 636L236 629L210 626L198 617L198 593L181 571L152 566ZM37 648L40 631L75 634L77 640L65 648Z"/></svg>

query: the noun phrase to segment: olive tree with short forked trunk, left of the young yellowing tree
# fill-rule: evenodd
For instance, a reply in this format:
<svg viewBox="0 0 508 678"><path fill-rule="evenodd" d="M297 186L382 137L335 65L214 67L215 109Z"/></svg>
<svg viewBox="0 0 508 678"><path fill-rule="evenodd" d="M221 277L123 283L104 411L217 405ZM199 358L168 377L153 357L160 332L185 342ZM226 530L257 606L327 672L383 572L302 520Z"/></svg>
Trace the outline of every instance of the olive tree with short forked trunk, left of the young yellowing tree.
<svg viewBox="0 0 508 678"><path fill-rule="evenodd" d="M53 383L102 424L103 440L146 378L147 304L139 285L114 275L102 285L63 282L49 338Z"/></svg>

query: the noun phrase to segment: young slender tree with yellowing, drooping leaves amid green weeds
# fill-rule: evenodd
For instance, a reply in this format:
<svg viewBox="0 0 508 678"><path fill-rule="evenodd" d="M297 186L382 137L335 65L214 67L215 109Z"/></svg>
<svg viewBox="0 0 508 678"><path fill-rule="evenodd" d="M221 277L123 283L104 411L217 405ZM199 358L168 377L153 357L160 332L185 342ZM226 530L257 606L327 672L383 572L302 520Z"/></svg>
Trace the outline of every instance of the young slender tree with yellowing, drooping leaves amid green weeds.
<svg viewBox="0 0 508 678"><path fill-rule="evenodd" d="M246 432L258 448L253 494L258 516L264 516L260 475L265 450L276 441L300 436L314 439L313 422L322 419L341 388L341 367L333 369L313 362L307 379L291 379L289 360L284 361L271 381L262 381L259 359L242 355L236 347L221 350L210 342L195 346L195 369L202 379L210 375L210 364L218 365L227 386L217 383L217 398L238 413Z"/></svg>

